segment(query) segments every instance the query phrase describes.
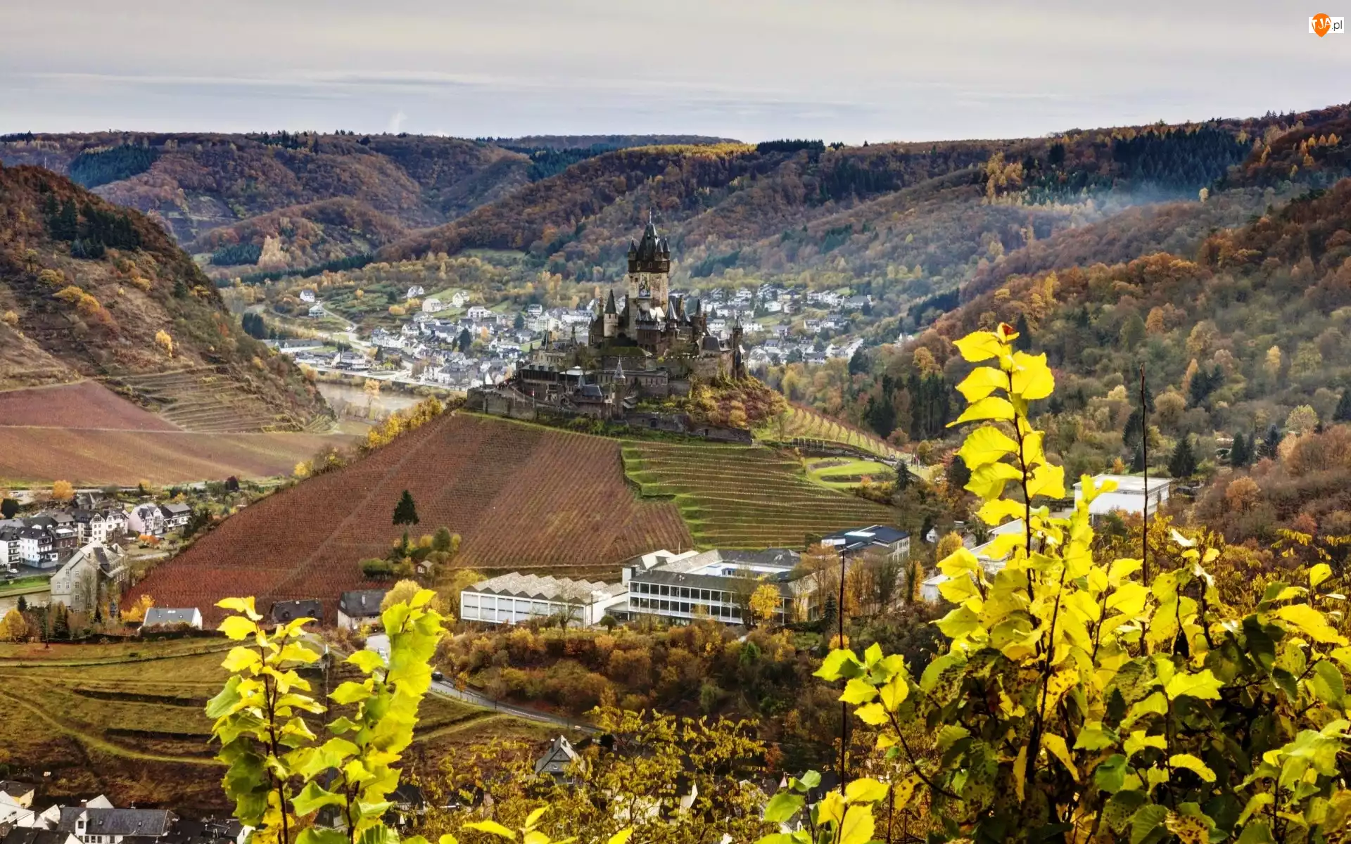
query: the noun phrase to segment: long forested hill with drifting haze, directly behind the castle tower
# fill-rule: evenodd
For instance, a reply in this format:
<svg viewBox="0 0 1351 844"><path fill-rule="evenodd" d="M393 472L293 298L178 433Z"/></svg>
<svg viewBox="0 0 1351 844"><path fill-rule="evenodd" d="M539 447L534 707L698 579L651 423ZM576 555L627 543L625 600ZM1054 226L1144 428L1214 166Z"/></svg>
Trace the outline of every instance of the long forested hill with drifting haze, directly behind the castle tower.
<svg viewBox="0 0 1351 844"><path fill-rule="evenodd" d="M915 302L993 289L1009 271L1189 253L1209 231L1346 174L1347 117L1336 107L1013 140L627 149L412 232L380 258L509 248L563 278L604 280L653 211L680 282L862 289L894 317L884 339ZM1292 144L1312 157L1293 174Z"/></svg>

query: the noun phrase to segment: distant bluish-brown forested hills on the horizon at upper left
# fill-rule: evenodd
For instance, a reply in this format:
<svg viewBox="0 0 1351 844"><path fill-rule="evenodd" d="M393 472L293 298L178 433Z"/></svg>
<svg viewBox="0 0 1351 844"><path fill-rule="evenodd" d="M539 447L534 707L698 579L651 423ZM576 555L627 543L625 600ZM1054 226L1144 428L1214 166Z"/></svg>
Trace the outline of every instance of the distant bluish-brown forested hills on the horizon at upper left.
<svg viewBox="0 0 1351 844"><path fill-rule="evenodd" d="M655 135L497 143L347 132L16 134L0 138L0 163L69 176L104 199L150 215L181 244L208 254L235 243L261 251L270 236L273 266L307 266L372 251L407 228L455 219L603 151L665 140ZM322 204L335 199L353 207L334 215ZM277 216L250 226L265 215ZM309 226L295 231L290 219ZM390 224L401 228L392 232ZM207 238L215 230L219 234ZM240 265L258 261L251 250L238 255L253 258ZM230 253L213 263L230 266L226 258Z"/></svg>

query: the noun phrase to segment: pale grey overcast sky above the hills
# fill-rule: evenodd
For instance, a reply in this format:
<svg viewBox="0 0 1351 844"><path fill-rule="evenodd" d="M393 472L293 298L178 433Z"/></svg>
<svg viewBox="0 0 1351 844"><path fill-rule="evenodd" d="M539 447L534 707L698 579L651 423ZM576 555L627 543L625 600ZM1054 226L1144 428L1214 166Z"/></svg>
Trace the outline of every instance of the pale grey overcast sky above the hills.
<svg viewBox="0 0 1351 844"><path fill-rule="evenodd" d="M928 140L1351 99L1286 0L0 0L0 132Z"/></svg>

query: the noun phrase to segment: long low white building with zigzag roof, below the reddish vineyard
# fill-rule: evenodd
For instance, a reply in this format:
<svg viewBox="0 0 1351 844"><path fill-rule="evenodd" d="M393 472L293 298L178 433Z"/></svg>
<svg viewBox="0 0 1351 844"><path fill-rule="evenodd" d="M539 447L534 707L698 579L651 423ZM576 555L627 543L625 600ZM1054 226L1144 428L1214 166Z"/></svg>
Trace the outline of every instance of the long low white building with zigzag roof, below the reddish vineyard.
<svg viewBox="0 0 1351 844"><path fill-rule="evenodd" d="M582 627L600 623L612 606L627 606L623 583L573 581L536 574L503 574L459 593L459 617L488 624L563 618Z"/></svg>

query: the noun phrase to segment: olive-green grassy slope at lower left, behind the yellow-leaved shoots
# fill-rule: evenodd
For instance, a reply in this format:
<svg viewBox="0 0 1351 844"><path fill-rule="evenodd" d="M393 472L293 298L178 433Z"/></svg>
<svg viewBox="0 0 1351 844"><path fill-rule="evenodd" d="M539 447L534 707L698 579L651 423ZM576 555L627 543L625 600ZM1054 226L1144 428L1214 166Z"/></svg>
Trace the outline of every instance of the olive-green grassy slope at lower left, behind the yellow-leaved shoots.
<svg viewBox="0 0 1351 844"><path fill-rule="evenodd" d="M226 806L203 712L220 690L219 639L53 645L0 644L0 766L50 771L45 797L107 794L124 806ZM328 685L349 679L339 667ZM323 677L309 678L322 695ZM409 759L547 728L444 697L423 701ZM317 727L317 722L313 725Z"/></svg>

